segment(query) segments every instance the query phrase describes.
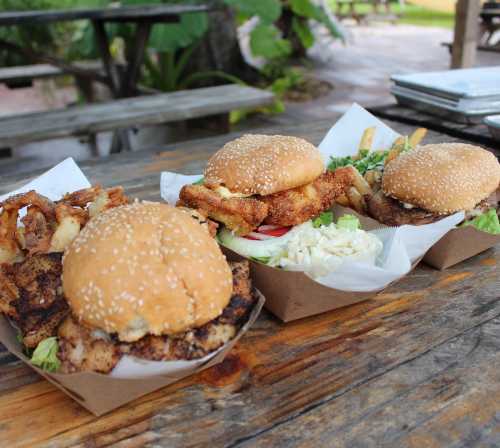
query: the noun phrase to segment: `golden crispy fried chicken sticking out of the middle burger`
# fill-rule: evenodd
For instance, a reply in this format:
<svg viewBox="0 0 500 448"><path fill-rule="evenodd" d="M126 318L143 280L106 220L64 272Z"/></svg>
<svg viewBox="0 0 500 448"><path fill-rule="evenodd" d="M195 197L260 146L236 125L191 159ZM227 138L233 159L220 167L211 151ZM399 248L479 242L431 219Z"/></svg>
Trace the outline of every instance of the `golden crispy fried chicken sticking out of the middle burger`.
<svg viewBox="0 0 500 448"><path fill-rule="evenodd" d="M268 196L224 198L207 186L185 185L179 195L179 204L201 210L237 235L246 235L262 223L302 224L329 209L352 184L350 170L339 168L307 185Z"/></svg>

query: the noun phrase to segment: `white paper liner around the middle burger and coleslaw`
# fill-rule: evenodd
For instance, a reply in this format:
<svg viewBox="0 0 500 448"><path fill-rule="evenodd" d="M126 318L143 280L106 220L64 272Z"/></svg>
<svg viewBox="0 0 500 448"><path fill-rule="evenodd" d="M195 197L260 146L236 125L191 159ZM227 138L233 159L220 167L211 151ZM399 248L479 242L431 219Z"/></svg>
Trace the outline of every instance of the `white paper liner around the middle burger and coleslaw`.
<svg viewBox="0 0 500 448"><path fill-rule="evenodd" d="M327 164L330 156L355 155L363 131L375 126L373 148L388 149L399 136L361 106L354 104L328 131L319 145ZM202 174L184 176L163 172L160 182L161 197L175 204L183 185L200 179ZM346 261L331 274L316 279L317 282L342 291L379 291L404 275L435 243L464 219L456 213L441 221L423 226L401 226L372 230L384 243L384 252L375 266Z"/></svg>

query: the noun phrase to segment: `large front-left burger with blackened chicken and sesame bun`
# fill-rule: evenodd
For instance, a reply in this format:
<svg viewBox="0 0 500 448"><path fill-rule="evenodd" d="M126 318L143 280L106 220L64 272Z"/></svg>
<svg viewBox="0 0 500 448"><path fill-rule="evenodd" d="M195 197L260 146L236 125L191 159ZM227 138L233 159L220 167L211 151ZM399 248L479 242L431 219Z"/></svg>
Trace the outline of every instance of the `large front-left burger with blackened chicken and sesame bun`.
<svg viewBox="0 0 500 448"><path fill-rule="evenodd" d="M60 373L108 373L126 355L202 358L256 303L248 263L229 264L195 212L160 203L109 208L64 254L26 252L1 268L0 311L32 363Z"/></svg>

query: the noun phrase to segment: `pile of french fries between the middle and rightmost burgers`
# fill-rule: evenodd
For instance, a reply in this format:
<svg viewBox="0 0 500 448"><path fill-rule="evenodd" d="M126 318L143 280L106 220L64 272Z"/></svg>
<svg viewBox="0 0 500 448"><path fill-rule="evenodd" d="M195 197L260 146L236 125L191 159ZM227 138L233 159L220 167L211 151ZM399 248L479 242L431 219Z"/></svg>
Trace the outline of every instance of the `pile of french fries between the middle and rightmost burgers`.
<svg viewBox="0 0 500 448"><path fill-rule="evenodd" d="M354 160L359 160L366 154L372 152L373 137L375 135L375 127L367 128L363 132L361 141L358 146L358 153L353 157ZM400 136L392 144L390 150L376 150L378 153L387 152L384 159L384 167L398 157L403 151L407 149L416 148L424 139L427 134L427 129L418 128L410 136ZM346 194L337 198L337 202L344 207L350 207L363 215L367 212L367 200L380 189L380 182L382 179L382 172L384 167L366 171L362 175L356 167L350 165L348 168L352 170L354 183L349 188Z"/></svg>

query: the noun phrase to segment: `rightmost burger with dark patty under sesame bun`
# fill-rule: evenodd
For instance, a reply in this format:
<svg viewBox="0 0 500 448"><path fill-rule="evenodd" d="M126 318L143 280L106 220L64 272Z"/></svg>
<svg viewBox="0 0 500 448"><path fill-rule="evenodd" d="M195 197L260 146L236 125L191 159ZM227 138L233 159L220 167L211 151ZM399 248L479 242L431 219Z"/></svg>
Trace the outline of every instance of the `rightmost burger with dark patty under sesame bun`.
<svg viewBox="0 0 500 448"><path fill-rule="evenodd" d="M499 184L500 164L491 152L464 143L423 145L385 166L368 213L389 226L429 224L459 211L466 221L488 214L498 223Z"/></svg>

